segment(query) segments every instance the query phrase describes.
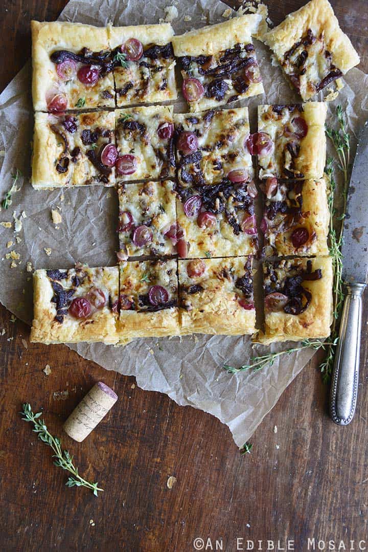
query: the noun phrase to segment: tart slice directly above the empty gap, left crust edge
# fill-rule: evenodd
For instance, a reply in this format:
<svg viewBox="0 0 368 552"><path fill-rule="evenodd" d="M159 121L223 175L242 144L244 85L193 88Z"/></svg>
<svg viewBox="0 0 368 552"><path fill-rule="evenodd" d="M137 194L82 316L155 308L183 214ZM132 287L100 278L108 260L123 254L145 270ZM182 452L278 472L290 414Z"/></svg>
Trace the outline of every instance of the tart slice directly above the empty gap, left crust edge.
<svg viewBox="0 0 368 552"><path fill-rule="evenodd" d="M35 114L31 183L36 189L115 184L114 112Z"/></svg>

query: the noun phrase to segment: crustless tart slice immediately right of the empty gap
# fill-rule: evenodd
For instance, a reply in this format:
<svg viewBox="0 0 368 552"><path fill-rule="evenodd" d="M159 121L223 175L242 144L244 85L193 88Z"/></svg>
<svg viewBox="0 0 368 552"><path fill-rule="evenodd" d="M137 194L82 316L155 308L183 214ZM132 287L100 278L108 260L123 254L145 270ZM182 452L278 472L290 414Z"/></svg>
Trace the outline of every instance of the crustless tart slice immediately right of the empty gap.
<svg viewBox="0 0 368 552"><path fill-rule="evenodd" d="M123 184L118 194L119 259L175 253L177 213L173 183Z"/></svg>

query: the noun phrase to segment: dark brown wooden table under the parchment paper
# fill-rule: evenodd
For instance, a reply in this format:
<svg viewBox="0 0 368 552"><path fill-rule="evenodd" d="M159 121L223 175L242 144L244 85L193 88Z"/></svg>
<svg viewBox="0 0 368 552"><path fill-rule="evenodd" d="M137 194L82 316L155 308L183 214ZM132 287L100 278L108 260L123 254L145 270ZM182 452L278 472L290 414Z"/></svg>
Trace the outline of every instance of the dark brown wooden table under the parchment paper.
<svg viewBox="0 0 368 552"><path fill-rule="evenodd" d="M270 0L270 16L279 23L303 3ZM367 0L332 4L360 52L360 67L368 71ZM3 0L0 89L30 56L30 20L54 20L64 5L63 0ZM195 538L205 544L211 538L213 549L222 539L222 549L229 551L243 538L244 549L247 539L271 539L275 548L277 540L286 548L290 539L300 551L308 549L308 538L316 539L315 546L318 539L344 539L346 549L350 540L367 538L365 325L359 403L351 425L340 428L329 420L328 389L314 358L257 429L252 454L245 457L214 417L142 391L134 378L105 371L65 346L29 343L29 328L12 322L3 307L0 334L2 328L2 550L182 552L195 549ZM62 423L99 379L115 389L119 401L78 444L62 434ZM44 408L52 432L63 436L81 473L102 484L105 492L98 498L65 486L66 473L52 465L50 449L20 420L24 401ZM177 482L169 490L172 475ZM206 549L211 550L209 543Z"/></svg>

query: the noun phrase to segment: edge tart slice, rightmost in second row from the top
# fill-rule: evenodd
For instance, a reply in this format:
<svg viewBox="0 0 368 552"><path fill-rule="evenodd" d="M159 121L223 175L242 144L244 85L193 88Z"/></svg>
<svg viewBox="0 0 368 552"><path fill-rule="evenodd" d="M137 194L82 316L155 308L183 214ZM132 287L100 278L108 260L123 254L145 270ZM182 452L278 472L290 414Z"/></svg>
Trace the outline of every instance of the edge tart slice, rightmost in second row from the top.
<svg viewBox="0 0 368 552"><path fill-rule="evenodd" d="M326 113L322 102L259 105L258 132L247 142L249 150L258 153L259 178L321 178Z"/></svg>

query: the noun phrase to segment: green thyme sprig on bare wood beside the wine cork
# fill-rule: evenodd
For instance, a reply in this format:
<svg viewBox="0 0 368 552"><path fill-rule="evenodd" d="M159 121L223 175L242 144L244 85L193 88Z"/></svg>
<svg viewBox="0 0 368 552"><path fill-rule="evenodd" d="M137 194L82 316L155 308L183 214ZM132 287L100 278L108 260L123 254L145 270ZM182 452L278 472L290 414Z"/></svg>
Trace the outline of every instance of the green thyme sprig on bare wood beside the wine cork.
<svg viewBox="0 0 368 552"><path fill-rule="evenodd" d="M94 496L98 496L98 491L103 491L103 489L100 489L97 486L98 483L90 483L78 474L78 468L76 468L73 464L74 457L71 456L67 450L61 449L60 439L58 439L57 437L52 437L51 433L49 433L49 431L47 430L44 420L39 420L40 416L42 416L42 412L34 414L32 412L31 405L26 402L23 405L22 412L20 413L22 414L22 416L24 416L22 420L34 424L34 429L32 431L38 434L39 439L41 439L41 441L49 445L49 447L54 450L55 454L52 456L52 458L56 458L56 460L54 460L55 466L69 471L72 474L72 477L68 477L66 486L87 487L87 489L93 491Z"/></svg>

